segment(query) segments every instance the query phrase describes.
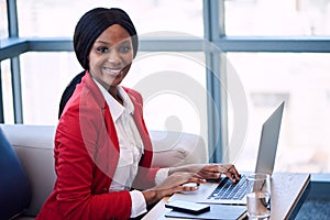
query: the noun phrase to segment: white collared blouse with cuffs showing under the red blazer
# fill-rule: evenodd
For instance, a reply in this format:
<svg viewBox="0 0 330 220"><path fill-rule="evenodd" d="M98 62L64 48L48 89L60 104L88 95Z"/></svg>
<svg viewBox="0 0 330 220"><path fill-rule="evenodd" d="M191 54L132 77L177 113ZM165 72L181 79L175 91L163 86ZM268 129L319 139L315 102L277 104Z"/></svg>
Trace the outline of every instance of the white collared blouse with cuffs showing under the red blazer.
<svg viewBox="0 0 330 220"><path fill-rule="evenodd" d="M118 94L123 100L119 103L97 80L94 79L101 90L112 116L117 130L120 147L119 163L110 186L110 191L130 190L138 174L139 162L143 154L144 145L133 119L134 106L125 90L118 86ZM162 168L156 174L155 182L162 183L168 175L167 168ZM132 199L131 218L146 211L144 196L139 190L130 191Z"/></svg>

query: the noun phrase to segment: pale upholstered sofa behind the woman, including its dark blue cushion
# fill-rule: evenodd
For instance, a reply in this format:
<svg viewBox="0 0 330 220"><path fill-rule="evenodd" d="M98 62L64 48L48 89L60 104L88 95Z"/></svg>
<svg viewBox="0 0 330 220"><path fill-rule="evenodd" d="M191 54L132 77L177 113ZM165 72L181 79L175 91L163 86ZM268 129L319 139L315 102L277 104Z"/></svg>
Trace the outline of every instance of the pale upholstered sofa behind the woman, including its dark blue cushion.
<svg viewBox="0 0 330 220"><path fill-rule="evenodd" d="M34 219L52 193L54 133L53 125L0 124L1 220ZM150 131L150 135L155 167L208 162L205 141L197 134Z"/></svg>

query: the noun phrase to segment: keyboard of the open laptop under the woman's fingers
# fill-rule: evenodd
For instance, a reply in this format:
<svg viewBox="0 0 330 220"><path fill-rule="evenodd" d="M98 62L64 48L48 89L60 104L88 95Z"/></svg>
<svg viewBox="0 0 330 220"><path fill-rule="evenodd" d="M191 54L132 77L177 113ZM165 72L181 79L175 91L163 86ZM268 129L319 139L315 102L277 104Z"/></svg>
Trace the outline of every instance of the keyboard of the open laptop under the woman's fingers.
<svg viewBox="0 0 330 220"><path fill-rule="evenodd" d="M246 176L242 175L239 183L232 183L228 177L222 178L217 188L209 195L211 200L240 200L250 191Z"/></svg>

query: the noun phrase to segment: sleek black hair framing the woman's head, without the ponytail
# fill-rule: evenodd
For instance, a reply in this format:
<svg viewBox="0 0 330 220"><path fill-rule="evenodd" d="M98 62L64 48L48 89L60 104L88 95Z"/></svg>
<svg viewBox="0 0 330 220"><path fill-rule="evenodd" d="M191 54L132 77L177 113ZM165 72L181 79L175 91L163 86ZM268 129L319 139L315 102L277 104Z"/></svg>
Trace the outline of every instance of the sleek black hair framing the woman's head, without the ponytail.
<svg viewBox="0 0 330 220"><path fill-rule="evenodd" d="M139 38L130 16L122 9L96 8L86 12L78 21L74 34L74 48L78 62L89 70L88 55L97 37L109 26L120 24L132 37L133 57L136 56Z"/></svg>

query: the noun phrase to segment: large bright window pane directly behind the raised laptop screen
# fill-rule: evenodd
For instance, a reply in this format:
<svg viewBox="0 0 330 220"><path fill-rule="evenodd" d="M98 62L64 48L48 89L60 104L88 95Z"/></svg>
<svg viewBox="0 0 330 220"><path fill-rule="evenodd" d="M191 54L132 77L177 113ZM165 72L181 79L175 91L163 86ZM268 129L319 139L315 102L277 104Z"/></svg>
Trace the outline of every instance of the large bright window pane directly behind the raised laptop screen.
<svg viewBox="0 0 330 220"><path fill-rule="evenodd" d="M237 164L254 170L262 123L286 100L275 169L329 173L330 54L231 53L245 90L249 123Z"/></svg>

